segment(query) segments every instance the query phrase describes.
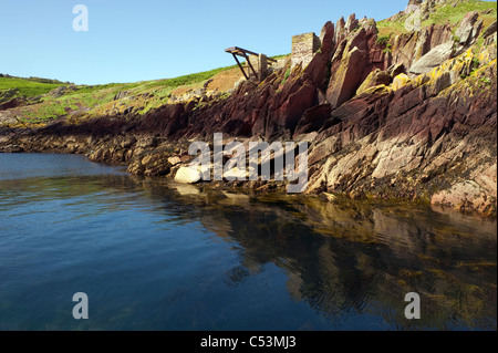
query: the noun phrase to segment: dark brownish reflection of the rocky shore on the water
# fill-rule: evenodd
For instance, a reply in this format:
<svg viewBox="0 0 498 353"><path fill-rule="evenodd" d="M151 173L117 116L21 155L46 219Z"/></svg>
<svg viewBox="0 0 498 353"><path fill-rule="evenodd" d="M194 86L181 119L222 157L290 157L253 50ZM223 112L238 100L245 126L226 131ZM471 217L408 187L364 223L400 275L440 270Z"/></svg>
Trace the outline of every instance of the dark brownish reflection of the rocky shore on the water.
<svg viewBox="0 0 498 353"><path fill-rule="evenodd" d="M101 195L112 201L74 216L135 206L167 216L168 224L199 222L237 253L222 285L237 288L277 267L291 299L308 303L332 329L351 329L347 320L362 316L353 329L496 330L496 221L419 205L201 190L122 173L34 176L0 180L0 187L2 217L19 203L54 198L69 200L65 217L72 217L72 204ZM405 319L408 292L421 295L423 320ZM168 301L183 295L175 293Z"/></svg>

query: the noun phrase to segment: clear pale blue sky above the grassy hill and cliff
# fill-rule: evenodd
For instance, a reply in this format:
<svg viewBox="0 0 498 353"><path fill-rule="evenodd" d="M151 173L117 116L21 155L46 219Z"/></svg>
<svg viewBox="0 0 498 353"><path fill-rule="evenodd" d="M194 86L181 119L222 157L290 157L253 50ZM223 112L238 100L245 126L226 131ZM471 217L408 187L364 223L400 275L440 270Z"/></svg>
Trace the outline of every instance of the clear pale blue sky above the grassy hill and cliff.
<svg viewBox="0 0 498 353"><path fill-rule="evenodd" d="M320 33L354 12L376 20L407 0L0 0L0 72L76 84L175 77L235 64L241 46L291 51L294 34ZM73 30L76 4L89 31Z"/></svg>

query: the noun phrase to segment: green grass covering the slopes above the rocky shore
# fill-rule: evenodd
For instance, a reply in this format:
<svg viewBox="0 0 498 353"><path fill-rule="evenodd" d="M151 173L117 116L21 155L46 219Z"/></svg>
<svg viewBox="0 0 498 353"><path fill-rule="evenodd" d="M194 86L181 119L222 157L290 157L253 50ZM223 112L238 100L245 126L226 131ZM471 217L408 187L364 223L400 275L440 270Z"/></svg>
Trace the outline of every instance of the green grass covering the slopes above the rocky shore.
<svg viewBox="0 0 498 353"><path fill-rule="evenodd" d="M452 1L448 1L452 2ZM463 3L453 7L450 3L434 9L430 17L425 20L423 27L432 23L452 23L458 24L465 14L469 11L486 11L491 10L490 13L480 14L485 20L486 28L492 21L496 21L497 2L467 0ZM378 35L393 39L394 35L405 33L407 30L404 27L406 15L400 17L396 21L384 20L377 22L380 30ZM280 59L286 55L273 56ZM236 68L220 68L206 72L194 73L185 76L167 80L144 81L136 83L112 83L95 86L79 86L76 92L65 94L61 97L53 97L44 95L42 103L23 106L15 110L15 115L20 121L27 123L43 123L49 120L68 115L68 112L81 112L85 115L101 115L110 112L123 112L126 107L133 106L137 108L141 114L165 104L172 92L178 87L197 89L200 87L207 80L214 77L218 73ZM39 83L22 79L6 79L0 77L0 96L2 91L8 89L18 89L17 96L37 96L45 94L51 90L60 86L60 83ZM128 93L128 97L120 101L114 101L114 96L122 91ZM145 96L147 94L147 96Z"/></svg>

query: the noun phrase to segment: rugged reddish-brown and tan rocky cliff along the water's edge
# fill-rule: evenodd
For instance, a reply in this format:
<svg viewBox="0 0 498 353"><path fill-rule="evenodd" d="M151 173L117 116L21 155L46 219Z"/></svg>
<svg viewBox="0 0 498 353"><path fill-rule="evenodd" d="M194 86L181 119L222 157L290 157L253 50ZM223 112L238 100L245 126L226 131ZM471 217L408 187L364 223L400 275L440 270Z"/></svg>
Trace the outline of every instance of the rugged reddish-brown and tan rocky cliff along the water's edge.
<svg viewBox="0 0 498 353"><path fill-rule="evenodd" d="M304 68L288 64L206 104L4 126L0 148L81 153L135 174L174 175L188 162L188 141L211 141L214 133L308 141L309 194L421 200L496 216L496 21L468 11L456 23L426 23L442 7L463 4L411 1L382 28L354 14L328 22ZM414 13L419 27L390 32Z"/></svg>

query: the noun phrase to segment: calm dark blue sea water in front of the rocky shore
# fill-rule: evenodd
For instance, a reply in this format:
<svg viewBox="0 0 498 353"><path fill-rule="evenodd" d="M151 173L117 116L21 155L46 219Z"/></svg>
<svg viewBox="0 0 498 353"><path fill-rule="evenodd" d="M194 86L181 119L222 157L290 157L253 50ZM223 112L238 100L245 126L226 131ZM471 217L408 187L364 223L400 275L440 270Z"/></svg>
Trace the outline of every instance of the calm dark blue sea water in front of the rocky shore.
<svg viewBox="0 0 498 353"><path fill-rule="evenodd" d="M496 226L0 154L0 330L496 330Z"/></svg>

